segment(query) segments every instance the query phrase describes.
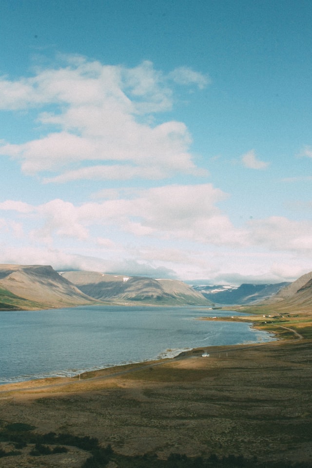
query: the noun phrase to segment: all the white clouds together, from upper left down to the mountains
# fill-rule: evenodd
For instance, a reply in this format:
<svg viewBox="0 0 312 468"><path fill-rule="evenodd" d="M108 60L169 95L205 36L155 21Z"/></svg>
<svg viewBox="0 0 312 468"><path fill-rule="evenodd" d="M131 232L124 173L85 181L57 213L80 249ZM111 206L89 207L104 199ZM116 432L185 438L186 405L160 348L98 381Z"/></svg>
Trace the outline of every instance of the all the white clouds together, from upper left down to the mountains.
<svg viewBox="0 0 312 468"><path fill-rule="evenodd" d="M235 224L225 208L231 193L207 182L187 125L170 119L177 87L201 92L207 75L165 74L150 61L61 60L0 79L0 110L33 124L32 137L0 144L24 177L16 198L0 201L1 263L215 281L278 282L311 270L312 222L274 215ZM240 162L270 167L255 150ZM56 195L27 202L26 178Z"/></svg>

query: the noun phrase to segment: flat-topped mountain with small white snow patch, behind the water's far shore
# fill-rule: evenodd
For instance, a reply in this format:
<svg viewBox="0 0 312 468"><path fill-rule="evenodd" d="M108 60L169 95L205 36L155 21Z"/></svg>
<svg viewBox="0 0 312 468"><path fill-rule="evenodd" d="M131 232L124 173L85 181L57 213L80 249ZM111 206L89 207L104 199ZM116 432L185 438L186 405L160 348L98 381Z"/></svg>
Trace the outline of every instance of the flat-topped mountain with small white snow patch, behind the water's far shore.
<svg viewBox="0 0 312 468"><path fill-rule="evenodd" d="M98 272L63 272L80 291L102 301L153 305L211 305L183 281Z"/></svg>

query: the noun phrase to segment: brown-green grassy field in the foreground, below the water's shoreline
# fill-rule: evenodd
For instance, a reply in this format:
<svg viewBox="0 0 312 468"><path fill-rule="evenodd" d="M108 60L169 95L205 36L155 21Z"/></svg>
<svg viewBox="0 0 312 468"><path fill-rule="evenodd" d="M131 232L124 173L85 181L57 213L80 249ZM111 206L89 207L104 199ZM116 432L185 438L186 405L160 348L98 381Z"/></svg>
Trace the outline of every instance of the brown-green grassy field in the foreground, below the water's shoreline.
<svg viewBox="0 0 312 468"><path fill-rule="evenodd" d="M302 321L268 317L258 315L254 321L279 330L287 341L210 348L208 358L194 350L176 359L88 373L81 380L1 386L2 428L22 422L38 434L94 437L120 456L240 455L310 464L310 314ZM4 451L12 448L12 442L2 442ZM0 466L74 468L88 456L77 447L39 457L29 451L26 447L19 455L0 458ZM109 462L112 468L136 466L122 465L117 455Z"/></svg>

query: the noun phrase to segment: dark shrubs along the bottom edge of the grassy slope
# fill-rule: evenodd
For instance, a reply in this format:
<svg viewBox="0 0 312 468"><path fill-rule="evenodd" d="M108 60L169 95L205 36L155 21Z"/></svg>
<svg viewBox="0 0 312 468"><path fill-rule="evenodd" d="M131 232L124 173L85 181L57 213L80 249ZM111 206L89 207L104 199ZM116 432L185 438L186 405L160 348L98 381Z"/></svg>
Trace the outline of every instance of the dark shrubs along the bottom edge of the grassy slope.
<svg viewBox="0 0 312 468"><path fill-rule="evenodd" d="M68 448L58 445L59 443L85 450L90 453L90 456L83 462L81 468L102 468L106 467L110 461L118 468L311 468L308 463L259 462L256 455L252 458L246 458L240 454L218 457L212 453L208 457L190 457L172 452L166 459L158 458L156 453L137 456L122 455L115 453L110 444L101 447L96 438L79 437L69 433L56 434L55 432L38 434L33 431L33 427L24 423L8 424L0 433L2 438L7 438L8 442L15 442L14 434L18 434L24 447L34 444L29 451L30 457L67 453ZM20 453L16 450L5 451L0 448L0 458L18 456Z"/></svg>

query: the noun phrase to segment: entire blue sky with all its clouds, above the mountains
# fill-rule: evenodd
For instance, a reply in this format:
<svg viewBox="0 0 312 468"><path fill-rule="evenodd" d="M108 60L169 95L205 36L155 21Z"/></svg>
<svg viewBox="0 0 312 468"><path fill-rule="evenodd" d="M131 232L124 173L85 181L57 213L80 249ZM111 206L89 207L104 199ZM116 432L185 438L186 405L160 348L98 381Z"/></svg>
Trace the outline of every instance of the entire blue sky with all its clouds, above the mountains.
<svg viewBox="0 0 312 468"><path fill-rule="evenodd" d="M1 0L0 263L312 270L312 3Z"/></svg>

